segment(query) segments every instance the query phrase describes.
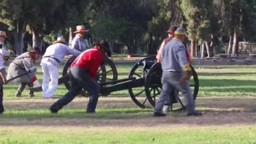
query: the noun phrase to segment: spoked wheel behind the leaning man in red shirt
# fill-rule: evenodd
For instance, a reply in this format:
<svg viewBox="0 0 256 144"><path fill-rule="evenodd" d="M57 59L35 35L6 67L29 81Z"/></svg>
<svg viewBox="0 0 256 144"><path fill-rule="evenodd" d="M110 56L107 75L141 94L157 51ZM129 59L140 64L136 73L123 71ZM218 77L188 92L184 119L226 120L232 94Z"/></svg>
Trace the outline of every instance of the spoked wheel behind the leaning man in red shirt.
<svg viewBox="0 0 256 144"><path fill-rule="evenodd" d="M65 63L62 76L67 75L69 72L69 68L71 63L75 60L76 56L72 56L68 59L68 61ZM97 79L101 81L101 83L106 82L108 80L117 80L117 68L115 67L115 64L111 59L104 57L104 61L106 62L104 65L101 65L98 70L98 77ZM64 83L65 87L69 90L70 89L70 81ZM83 96L87 96L86 91L81 91L80 93Z"/></svg>

